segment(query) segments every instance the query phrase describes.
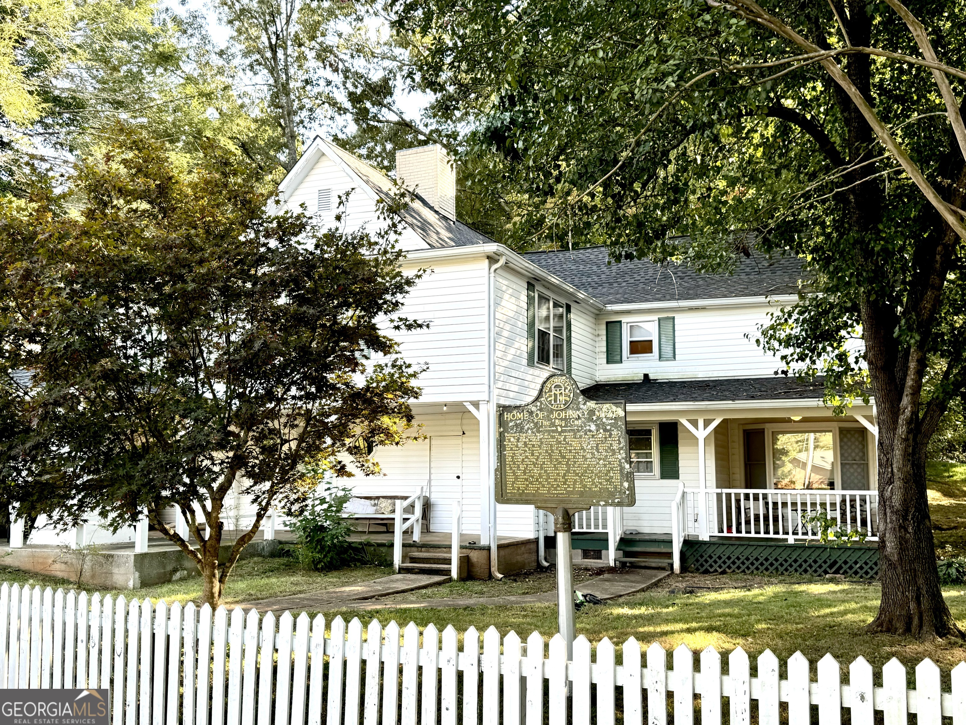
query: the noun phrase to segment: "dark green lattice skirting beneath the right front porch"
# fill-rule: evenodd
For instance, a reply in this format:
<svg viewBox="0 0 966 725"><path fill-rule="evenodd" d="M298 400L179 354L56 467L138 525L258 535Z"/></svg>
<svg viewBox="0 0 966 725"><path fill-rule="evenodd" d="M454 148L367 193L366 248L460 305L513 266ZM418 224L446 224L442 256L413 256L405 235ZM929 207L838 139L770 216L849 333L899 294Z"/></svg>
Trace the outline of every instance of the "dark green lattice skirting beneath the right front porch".
<svg viewBox="0 0 966 725"><path fill-rule="evenodd" d="M844 574L850 579L875 579L879 575L879 550L870 544L837 548L777 541L689 539L681 549L681 565L701 574Z"/></svg>

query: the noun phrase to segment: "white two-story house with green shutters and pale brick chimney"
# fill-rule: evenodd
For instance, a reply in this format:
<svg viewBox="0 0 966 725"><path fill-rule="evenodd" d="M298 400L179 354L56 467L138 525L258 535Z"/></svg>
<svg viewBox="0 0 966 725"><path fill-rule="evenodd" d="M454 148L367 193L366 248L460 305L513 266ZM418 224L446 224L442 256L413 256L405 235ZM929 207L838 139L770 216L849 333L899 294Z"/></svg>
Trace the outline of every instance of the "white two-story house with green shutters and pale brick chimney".
<svg viewBox="0 0 966 725"><path fill-rule="evenodd" d="M584 395L626 401L637 485L635 507L575 517L578 558L663 564L689 540L705 542L692 563L734 549L712 542L760 540L773 547L760 556L774 558L775 546L818 536L819 510L874 539L873 407L833 416L820 385L778 375L755 343L769 313L797 300L798 259L753 254L733 275L697 275L613 263L604 247L520 254L456 218L455 171L439 146L399 152L396 173L417 194L404 212L404 269L428 271L405 313L429 326L397 333L404 357L427 366L413 403L425 438L377 449L384 475L351 479L359 495L422 486L432 531L450 530L459 501L463 533L492 553L497 537L542 542L549 516L494 501L495 410L564 371ZM279 191L325 222L351 189L343 223L379 223L376 199L393 182L317 137Z"/></svg>

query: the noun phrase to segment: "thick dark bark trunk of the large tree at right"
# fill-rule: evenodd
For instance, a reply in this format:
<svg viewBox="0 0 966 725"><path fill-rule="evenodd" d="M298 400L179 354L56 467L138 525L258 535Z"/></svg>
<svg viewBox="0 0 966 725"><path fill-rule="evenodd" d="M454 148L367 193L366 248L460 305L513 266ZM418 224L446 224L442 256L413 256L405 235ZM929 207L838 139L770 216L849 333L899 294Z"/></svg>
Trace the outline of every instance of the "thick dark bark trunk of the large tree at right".
<svg viewBox="0 0 966 725"><path fill-rule="evenodd" d="M890 439L892 437L889 437ZM895 442L898 443L898 442ZM962 636L939 586L925 464L902 466L904 447L879 439L879 578L882 598L869 632L919 639ZM899 464L896 466L896 464ZM898 472L895 468L905 469Z"/></svg>

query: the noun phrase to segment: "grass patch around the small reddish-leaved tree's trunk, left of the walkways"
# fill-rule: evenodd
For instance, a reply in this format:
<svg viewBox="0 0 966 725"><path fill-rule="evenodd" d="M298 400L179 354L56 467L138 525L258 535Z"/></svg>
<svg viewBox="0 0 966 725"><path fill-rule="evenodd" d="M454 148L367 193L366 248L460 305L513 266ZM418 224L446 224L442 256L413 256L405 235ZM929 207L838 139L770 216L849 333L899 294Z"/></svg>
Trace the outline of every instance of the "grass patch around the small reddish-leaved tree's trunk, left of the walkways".
<svg viewBox="0 0 966 725"><path fill-rule="evenodd" d="M291 558L277 559L242 559L232 570L222 597L224 604L235 604L255 599L265 599L270 596L287 596L288 594L303 594L319 590L334 589L347 584L378 579L392 573L391 568L384 566L350 566L335 571L309 571L298 566L298 562ZM143 599L150 597L152 601L164 599L168 603L180 601L201 601L201 578L186 577L176 582L159 584L155 587L144 587L138 590L109 590L93 587L88 584L79 586L68 579L54 576L44 576L20 569L4 568L0 579L11 584L41 585L57 589L84 589L88 592L101 594L124 594L128 598Z"/></svg>

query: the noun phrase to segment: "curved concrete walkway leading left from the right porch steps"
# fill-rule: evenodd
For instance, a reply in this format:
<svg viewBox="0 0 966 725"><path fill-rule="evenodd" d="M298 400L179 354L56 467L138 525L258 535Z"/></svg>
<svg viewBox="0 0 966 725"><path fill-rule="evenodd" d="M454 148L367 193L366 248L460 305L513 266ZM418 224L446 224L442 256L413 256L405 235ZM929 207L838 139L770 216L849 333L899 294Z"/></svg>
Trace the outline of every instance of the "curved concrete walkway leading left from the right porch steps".
<svg viewBox="0 0 966 725"><path fill-rule="evenodd" d="M618 596L644 592L662 579L669 571L657 569L627 569L621 573L604 574L581 582L576 589L583 594L597 594L604 600ZM464 607L515 607L528 604L555 604L556 593L518 594L514 596L466 596L447 599L412 599L409 601L343 601L308 607L311 612L327 612L340 609L366 612L373 609L462 609ZM257 602L255 602L257 605ZM258 607L261 609L261 607Z"/></svg>

